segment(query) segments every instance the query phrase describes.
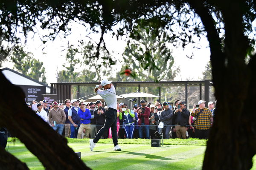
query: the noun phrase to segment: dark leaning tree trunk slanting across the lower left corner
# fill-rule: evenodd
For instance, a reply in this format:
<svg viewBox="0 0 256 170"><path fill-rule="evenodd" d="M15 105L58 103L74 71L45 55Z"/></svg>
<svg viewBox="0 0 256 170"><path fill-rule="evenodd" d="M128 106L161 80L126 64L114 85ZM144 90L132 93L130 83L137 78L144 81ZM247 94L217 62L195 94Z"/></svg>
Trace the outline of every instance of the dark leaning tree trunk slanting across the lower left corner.
<svg viewBox="0 0 256 170"><path fill-rule="evenodd" d="M19 138L46 169L90 170L67 146L67 139L56 133L41 117L27 107L23 91L12 85L2 72L0 72L0 79L0 127L6 127L13 136ZM11 159L10 156L5 156L1 161L7 162L9 159Z"/></svg>

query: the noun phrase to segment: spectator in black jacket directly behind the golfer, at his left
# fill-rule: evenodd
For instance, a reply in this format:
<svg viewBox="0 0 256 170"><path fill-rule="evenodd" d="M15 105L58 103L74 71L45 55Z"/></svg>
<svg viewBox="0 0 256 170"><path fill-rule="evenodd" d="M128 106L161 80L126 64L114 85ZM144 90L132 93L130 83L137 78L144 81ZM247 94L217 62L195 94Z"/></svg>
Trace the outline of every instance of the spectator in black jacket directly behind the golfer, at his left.
<svg viewBox="0 0 256 170"><path fill-rule="evenodd" d="M94 119L96 120L96 128L98 133L105 123L106 116L105 116L105 108L102 108L102 102L100 100L97 100L95 104L97 106L97 109L93 112L93 115L94 115ZM103 139L107 139L108 131L103 133L102 137Z"/></svg>

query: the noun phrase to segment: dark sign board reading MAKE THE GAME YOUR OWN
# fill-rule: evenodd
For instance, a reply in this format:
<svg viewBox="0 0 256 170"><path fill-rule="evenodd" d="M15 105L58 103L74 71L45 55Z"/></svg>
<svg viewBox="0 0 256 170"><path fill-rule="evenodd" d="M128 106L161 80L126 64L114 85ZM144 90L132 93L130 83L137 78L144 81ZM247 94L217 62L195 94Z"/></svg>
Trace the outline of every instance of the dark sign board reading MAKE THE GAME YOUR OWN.
<svg viewBox="0 0 256 170"><path fill-rule="evenodd" d="M40 101L43 100L42 94L45 94L45 86L35 86L35 85L17 85L22 88L25 93L26 102L32 103L33 100Z"/></svg>

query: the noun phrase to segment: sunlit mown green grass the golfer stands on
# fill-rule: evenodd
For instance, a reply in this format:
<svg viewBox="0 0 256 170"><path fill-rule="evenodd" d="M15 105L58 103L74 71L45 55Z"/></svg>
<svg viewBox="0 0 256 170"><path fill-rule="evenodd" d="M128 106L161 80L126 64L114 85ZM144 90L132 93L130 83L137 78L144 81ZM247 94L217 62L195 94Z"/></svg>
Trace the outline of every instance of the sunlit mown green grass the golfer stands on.
<svg viewBox="0 0 256 170"><path fill-rule="evenodd" d="M93 170L200 170L206 149L200 145L121 144L122 151L113 151L113 144L97 143L94 151L90 151L89 143L68 145L75 152L81 152L81 160ZM44 170L24 144L10 143L8 151L25 162L29 169ZM255 170L255 164L252 170Z"/></svg>

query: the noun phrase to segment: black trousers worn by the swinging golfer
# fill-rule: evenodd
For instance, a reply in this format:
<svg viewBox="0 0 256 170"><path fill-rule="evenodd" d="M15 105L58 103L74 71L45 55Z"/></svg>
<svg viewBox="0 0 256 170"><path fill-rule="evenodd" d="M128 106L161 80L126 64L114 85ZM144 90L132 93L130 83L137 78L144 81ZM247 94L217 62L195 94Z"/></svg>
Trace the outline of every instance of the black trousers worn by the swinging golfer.
<svg viewBox="0 0 256 170"><path fill-rule="evenodd" d="M93 139L94 143L97 143L99 139L101 139L102 135L106 133L106 131L111 127L113 144L114 146L118 144L117 134L116 134L116 118L117 118L116 114L117 114L116 109L113 109L113 108L108 108L108 110L105 111L105 116L106 116L105 124Z"/></svg>

